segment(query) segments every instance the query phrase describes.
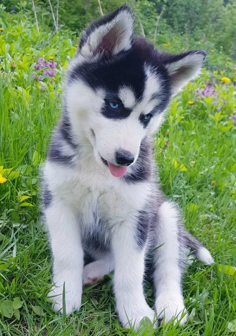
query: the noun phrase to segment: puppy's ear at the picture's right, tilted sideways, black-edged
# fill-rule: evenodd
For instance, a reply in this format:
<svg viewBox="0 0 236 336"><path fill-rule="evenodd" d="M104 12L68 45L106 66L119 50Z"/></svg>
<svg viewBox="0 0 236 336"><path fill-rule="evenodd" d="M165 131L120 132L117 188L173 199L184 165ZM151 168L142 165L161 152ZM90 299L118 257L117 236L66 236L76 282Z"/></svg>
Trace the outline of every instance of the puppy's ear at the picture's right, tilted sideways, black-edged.
<svg viewBox="0 0 236 336"><path fill-rule="evenodd" d="M178 93L190 80L201 73L206 52L193 50L179 55L173 55L164 61L164 67L170 77L171 93Z"/></svg>

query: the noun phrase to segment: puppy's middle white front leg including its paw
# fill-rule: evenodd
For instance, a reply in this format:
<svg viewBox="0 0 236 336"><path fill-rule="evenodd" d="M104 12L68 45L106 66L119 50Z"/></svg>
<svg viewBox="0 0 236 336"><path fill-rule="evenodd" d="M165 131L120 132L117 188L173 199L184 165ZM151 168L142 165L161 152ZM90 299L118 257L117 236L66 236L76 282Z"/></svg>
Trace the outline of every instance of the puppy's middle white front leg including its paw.
<svg viewBox="0 0 236 336"><path fill-rule="evenodd" d="M112 237L114 253L114 292L120 322L135 330L144 316L154 319L154 311L148 306L143 293L145 242L138 246L135 239L135 223L122 222L116 226Z"/></svg>

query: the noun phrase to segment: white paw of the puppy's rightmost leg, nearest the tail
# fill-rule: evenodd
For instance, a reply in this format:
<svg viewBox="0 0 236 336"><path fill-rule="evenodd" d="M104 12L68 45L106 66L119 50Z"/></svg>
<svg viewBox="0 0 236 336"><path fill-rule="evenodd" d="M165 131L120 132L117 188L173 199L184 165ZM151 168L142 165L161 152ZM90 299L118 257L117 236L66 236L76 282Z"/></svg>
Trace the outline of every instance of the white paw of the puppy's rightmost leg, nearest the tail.
<svg viewBox="0 0 236 336"><path fill-rule="evenodd" d="M158 320L163 320L165 316L165 323L170 321L172 318L175 318L174 324L176 324L179 320L180 325L183 325L187 322L188 314L186 313L186 308L181 293L161 293L155 301L155 307L156 317Z"/></svg>

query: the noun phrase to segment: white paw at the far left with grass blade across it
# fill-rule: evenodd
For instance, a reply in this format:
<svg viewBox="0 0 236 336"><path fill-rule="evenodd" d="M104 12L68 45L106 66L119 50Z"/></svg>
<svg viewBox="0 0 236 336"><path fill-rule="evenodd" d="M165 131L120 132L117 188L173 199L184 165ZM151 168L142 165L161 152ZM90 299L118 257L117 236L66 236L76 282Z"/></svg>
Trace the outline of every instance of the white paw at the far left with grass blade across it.
<svg viewBox="0 0 236 336"><path fill-rule="evenodd" d="M63 278L61 278L63 279ZM68 279L68 278L67 278ZM62 281L55 281L55 284L62 284ZM54 311L60 310L63 313L63 284L61 286L53 286L48 293L50 300L54 301L52 309ZM81 305L82 296L82 281L66 280L65 281L65 301L66 301L66 314L70 314L74 309L79 309Z"/></svg>

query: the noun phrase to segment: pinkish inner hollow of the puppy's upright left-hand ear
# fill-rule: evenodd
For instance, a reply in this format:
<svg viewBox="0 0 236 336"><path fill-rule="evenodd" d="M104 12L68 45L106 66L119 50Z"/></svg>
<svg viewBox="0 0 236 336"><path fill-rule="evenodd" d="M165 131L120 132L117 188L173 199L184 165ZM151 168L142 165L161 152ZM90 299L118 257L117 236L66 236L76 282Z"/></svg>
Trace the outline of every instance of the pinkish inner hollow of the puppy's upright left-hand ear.
<svg viewBox="0 0 236 336"><path fill-rule="evenodd" d="M109 33L103 37L102 41L93 51L93 56L97 54L103 54L110 58L118 40L119 33L116 28L112 28Z"/></svg>

